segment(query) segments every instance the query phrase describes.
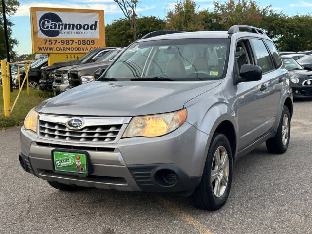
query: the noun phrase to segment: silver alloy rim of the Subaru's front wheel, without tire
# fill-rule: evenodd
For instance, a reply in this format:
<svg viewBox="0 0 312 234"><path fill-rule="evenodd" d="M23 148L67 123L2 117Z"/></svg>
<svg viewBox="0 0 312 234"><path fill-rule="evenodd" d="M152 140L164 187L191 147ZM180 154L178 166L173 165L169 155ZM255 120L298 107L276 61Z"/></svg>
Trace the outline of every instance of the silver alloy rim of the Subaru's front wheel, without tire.
<svg viewBox="0 0 312 234"><path fill-rule="evenodd" d="M228 176L228 152L223 146L219 146L215 151L211 168L211 183L216 197L221 197L224 194L228 184Z"/></svg>

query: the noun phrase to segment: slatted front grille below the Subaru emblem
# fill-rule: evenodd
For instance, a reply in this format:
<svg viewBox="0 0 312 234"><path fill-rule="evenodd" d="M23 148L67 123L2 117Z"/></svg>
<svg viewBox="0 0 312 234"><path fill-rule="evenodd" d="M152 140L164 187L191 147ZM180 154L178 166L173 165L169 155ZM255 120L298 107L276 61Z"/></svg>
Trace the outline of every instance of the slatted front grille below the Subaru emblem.
<svg viewBox="0 0 312 234"><path fill-rule="evenodd" d="M112 142L118 136L122 124L87 126L79 130L63 124L39 120L39 136L52 140L77 142Z"/></svg>

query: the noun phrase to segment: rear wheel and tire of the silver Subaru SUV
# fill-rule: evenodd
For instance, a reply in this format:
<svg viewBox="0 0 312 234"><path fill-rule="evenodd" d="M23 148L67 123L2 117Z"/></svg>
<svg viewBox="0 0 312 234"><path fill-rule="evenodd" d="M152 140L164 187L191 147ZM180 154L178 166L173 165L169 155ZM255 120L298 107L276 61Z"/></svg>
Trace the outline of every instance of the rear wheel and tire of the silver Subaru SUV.
<svg viewBox="0 0 312 234"><path fill-rule="evenodd" d="M273 154L286 152L291 134L291 115L287 106L284 106L279 126L275 137L268 139L265 143L267 149Z"/></svg>

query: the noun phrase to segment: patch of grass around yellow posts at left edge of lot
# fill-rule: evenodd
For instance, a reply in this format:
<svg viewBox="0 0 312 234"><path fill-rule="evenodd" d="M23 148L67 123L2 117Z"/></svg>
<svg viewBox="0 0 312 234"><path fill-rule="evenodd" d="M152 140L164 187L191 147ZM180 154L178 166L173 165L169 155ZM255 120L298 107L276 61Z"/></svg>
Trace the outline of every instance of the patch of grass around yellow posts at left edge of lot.
<svg viewBox="0 0 312 234"><path fill-rule="evenodd" d="M11 93L11 107L18 93L18 90L14 90L13 93ZM3 91L2 86L0 86L0 130L23 125L27 113L40 102L52 96L53 93L32 89L29 90L29 95L27 95L27 90L22 90L11 116L4 117Z"/></svg>

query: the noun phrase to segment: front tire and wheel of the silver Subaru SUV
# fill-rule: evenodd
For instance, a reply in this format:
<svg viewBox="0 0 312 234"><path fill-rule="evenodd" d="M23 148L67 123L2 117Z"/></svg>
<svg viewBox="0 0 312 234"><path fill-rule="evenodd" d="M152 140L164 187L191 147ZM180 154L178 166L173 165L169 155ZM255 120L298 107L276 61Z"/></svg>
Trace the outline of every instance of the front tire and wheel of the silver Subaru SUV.
<svg viewBox="0 0 312 234"><path fill-rule="evenodd" d="M214 211L225 204L231 189L232 167L230 142L225 135L215 133L200 184L191 197L195 207Z"/></svg>

